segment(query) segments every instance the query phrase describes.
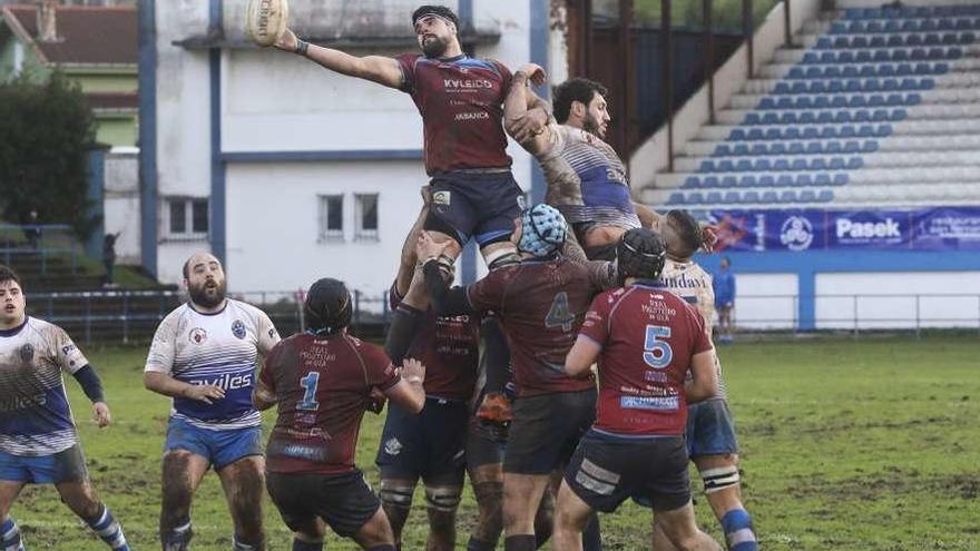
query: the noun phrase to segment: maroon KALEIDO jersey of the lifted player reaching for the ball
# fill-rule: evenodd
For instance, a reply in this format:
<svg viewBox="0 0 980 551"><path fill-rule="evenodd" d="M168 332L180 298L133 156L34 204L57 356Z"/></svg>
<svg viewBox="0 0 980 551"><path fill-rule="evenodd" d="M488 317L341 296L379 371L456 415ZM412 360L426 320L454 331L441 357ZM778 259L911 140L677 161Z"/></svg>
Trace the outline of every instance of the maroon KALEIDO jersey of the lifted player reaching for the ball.
<svg viewBox="0 0 980 551"><path fill-rule="evenodd" d="M422 115L425 171L508 168L503 100L511 75L502 63L459 56L398 56L402 91Z"/></svg>

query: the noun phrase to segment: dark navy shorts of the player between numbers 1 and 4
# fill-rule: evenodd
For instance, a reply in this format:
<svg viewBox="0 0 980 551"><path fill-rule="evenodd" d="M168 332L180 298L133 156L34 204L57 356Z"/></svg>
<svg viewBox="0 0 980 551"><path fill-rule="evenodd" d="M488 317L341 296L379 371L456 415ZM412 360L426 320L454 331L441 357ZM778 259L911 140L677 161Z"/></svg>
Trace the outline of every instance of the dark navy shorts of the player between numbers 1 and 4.
<svg viewBox="0 0 980 551"><path fill-rule="evenodd" d="M418 415L389 403L375 464L382 479L463 483L465 402L427 397Z"/></svg>

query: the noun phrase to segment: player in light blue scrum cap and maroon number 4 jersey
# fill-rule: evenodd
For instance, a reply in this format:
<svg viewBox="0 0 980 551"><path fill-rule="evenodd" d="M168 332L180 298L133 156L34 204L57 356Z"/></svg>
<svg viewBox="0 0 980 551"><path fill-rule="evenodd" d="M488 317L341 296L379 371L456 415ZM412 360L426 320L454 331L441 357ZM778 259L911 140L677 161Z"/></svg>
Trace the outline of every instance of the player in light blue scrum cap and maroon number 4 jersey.
<svg viewBox="0 0 980 551"><path fill-rule="evenodd" d="M595 381L571 378L562 365L591 297L612 284L614 270L560 254L568 227L553 207L536 205L514 226L521 262L468 287L447 288L438 260L444 245L423 235L419 257L438 314L492 311L510 343L517 401L503 459L504 549L523 551L538 544L535 516L550 475L595 417Z"/></svg>

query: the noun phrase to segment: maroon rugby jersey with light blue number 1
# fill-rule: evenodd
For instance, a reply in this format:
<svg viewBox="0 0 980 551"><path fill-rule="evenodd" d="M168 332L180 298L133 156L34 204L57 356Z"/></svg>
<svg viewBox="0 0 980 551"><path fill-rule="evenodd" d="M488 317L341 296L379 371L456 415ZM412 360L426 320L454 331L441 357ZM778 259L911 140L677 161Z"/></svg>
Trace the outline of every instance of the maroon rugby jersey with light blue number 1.
<svg viewBox="0 0 980 551"><path fill-rule="evenodd" d="M388 390L401 381L380 346L346 334L308 333L281 341L258 378L278 399L266 449L268 471L316 474L354 470L371 388Z"/></svg>

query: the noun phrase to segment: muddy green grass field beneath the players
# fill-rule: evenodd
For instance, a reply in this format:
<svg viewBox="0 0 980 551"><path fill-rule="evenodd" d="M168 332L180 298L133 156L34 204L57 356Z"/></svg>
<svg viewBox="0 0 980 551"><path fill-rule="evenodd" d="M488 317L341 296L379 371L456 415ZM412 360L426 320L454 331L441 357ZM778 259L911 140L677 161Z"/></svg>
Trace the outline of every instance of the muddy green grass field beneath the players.
<svg viewBox="0 0 980 551"><path fill-rule="evenodd" d="M722 348L743 445L745 501L762 549L980 550L977 344L974 335L827 337ZM112 427L99 431L77 384L68 382L92 479L134 549L159 549L167 400L143 388L144 350L87 352L116 415ZM372 483L380 429L381 417L365 415L357 462ZM459 549L474 511L468 490ZM721 541L703 502L697 512ZM29 549L104 549L49 486L24 491L13 514ZM271 505L265 516L270 549L290 549L290 533ZM607 550L648 548L646 510L626 504L602 523ZM194 528L194 549L231 549L214 475L198 491ZM425 530L424 511L416 509L404 548L424 549ZM335 537L326 548L355 549Z"/></svg>

